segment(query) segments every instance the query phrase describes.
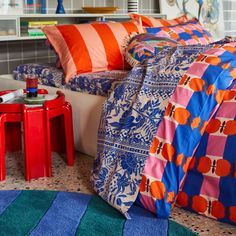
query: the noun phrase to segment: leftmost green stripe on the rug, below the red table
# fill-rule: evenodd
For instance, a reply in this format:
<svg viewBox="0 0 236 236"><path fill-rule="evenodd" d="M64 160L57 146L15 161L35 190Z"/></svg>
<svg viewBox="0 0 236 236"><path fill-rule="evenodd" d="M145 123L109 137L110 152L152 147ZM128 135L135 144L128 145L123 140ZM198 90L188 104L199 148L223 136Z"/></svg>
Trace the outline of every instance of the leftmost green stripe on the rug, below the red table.
<svg viewBox="0 0 236 236"><path fill-rule="evenodd" d="M22 191L0 216L0 235L29 235L56 195L53 191Z"/></svg>

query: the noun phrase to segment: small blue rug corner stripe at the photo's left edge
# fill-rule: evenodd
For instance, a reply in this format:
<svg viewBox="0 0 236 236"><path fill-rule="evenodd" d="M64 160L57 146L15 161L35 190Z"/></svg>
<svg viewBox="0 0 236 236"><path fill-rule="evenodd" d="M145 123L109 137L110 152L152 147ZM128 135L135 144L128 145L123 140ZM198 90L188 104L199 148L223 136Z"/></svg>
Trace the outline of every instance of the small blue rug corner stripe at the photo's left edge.
<svg viewBox="0 0 236 236"><path fill-rule="evenodd" d="M6 208L17 198L20 193L20 190L0 191L0 214L2 214L6 210Z"/></svg>

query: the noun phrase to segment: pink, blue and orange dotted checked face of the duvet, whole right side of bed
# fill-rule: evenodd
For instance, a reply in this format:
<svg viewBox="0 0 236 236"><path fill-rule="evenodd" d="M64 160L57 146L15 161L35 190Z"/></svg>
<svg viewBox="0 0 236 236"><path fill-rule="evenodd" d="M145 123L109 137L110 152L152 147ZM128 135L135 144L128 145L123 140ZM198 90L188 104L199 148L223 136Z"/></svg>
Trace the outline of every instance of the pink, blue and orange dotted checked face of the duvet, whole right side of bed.
<svg viewBox="0 0 236 236"><path fill-rule="evenodd" d="M204 131L208 121L223 99L234 97L235 92L233 90L229 92L227 89L235 78L236 43L229 43L215 45L201 54L180 80L153 138L138 196L138 202L156 213L158 217L169 217L171 208L175 204L176 196L182 188L183 192L186 191L186 195L190 194L188 204L184 201L184 204L187 204L186 207L192 204L192 207L194 205L193 208L198 209L198 212L205 212L207 208L212 209L217 219L223 219L226 214L228 214L227 217L230 217L230 212L235 211L233 206L235 205L236 182L235 178L232 178L232 174L233 176L235 175L235 149L234 146L230 146L235 142L235 137L228 137L227 144L225 144L226 137L221 137L222 135L209 137L208 143L204 138ZM227 102L228 107L224 105L219 111L223 109L229 116L232 116L225 120L225 122L229 120L230 122L227 123L227 129L224 129L224 132L231 134L235 131L235 106L234 114L232 114L232 104L231 108L229 108L229 101L225 102ZM214 119L211 120L207 131L215 131L216 126L219 130L223 129L221 122L214 121ZM188 176L187 173L194 161L193 156L202 136L202 145L207 145L207 151L211 147L212 153L209 153L211 157L203 158L202 162L199 163L199 170L205 171L206 176L204 181L196 183L196 177L192 177L194 172L190 171ZM212 145L219 145L219 147L212 147ZM214 168L214 171L217 170L217 172L211 173L211 166L216 165L218 160L216 150L219 152L218 155L222 155L223 145L226 145L224 151L226 156L224 160L219 161L218 168ZM197 151L197 153L200 153L200 151ZM224 163L224 168L222 168L222 163ZM213 177L217 173L225 176ZM188 182L183 185L186 176ZM201 183L203 186L201 186ZM212 189L209 189L209 183L211 183ZM221 186L221 191L214 186L215 184ZM199 203L197 205L193 204L196 201L191 198L192 193L197 191L194 185L199 185L200 195L201 190L203 191L204 189L205 191L202 192L204 197L198 197L196 200ZM213 188L216 189L213 190ZM204 200L206 199L207 191L211 191L210 194L212 194L212 196L209 196L211 199L210 204L213 204L211 206ZM186 195L182 193L182 196L185 196L183 198L185 200ZM214 202L214 199L217 198L219 201ZM231 206L233 208L230 208ZM223 212L225 212L224 217ZM235 213L231 215L235 219Z"/></svg>

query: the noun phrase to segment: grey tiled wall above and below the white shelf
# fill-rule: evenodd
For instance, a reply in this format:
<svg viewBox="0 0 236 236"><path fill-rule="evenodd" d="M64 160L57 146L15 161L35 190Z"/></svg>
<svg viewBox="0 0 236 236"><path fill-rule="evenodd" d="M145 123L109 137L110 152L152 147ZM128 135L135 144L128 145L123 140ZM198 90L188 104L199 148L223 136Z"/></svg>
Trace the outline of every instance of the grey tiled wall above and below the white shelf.
<svg viewBox="0 0 236 236"><path fill-rule="evenodd" d="M157 0L140 0L140 12L159 12ZM119 13L127 13L127 0L64 0L66 13L77 13L83 6L118 6ZM48 0L49 13L55 13L57 0ZM0 74L11 74L22 63L54 63L55 54L45 40L0 42Z"/></svg>

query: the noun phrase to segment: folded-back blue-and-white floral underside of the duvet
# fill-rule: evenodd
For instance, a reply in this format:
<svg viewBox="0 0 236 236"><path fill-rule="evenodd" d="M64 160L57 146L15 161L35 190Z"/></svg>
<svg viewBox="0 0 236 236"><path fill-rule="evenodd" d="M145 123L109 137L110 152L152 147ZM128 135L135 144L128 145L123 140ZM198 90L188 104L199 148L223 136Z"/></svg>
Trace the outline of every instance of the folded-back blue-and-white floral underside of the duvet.
<svg viewBox="0 0 236 236"><path fill-rule="evenodd" d="M191 63L209 47L162 50L134 67L105 102L91 178L96 192L122 213L137 197L149 147L170 96Z"/></svg>

